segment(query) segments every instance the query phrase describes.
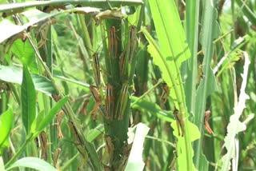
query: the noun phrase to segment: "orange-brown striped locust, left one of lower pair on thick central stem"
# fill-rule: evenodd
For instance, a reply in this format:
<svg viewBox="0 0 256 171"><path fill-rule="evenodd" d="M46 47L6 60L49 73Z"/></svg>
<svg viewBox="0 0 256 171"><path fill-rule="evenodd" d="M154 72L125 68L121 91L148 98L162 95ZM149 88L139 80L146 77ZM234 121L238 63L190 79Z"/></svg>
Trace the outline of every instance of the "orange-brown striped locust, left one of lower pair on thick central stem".
<svg viewBox="0 0 256 171"><path fill-rule="evenodd" d="M113 120L114 115L114 90L113 86L110 83L106 84L106 119Z"/></svg>

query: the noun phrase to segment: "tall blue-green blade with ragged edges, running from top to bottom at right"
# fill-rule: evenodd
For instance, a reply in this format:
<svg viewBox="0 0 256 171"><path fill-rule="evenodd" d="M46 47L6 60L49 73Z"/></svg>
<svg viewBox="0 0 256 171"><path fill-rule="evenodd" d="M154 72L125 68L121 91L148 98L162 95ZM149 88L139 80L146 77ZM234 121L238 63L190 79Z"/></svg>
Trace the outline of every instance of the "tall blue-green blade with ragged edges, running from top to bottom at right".
<svg viewBox="0 0 256 171"><path fill-rule="evenodd" d="M214 1L206 1L205 6L203 6L203 17L202 17L202 50L204 53L204 58L202 62L202 72L203 78L197 89L196 96L196 105L194 113L194 124L198 125L200 133L203 135L204 126L202 121L205 116L206 111L206 98L214 92L217 85L215 82L213 71L210 68L210 62L214 56L214 39L218 38L220 35L220 29L217 22L217 10L214 8ZM202 158L202 137L200 137L199 141L194 142L194 165L197 169L202 165L206 165L203 163L205 161L200 160Z"/></svg>

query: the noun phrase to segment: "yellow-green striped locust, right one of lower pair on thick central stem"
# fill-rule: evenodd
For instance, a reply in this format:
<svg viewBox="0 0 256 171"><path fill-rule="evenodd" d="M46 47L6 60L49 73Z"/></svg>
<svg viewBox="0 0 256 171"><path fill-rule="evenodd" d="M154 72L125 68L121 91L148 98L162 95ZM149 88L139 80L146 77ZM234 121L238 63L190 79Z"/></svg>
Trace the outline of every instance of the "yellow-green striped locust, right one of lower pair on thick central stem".
<svg viewBox="0 0 256 171"><path fill-rule="evenodd" d="M114 118L118 117L118 120L122 120L122 117L125 113L126 105L127 105L127 100L128 100L128 89L129 89L129 83L124 83L122 84L122 89L121 92L118 96L118 105L117 105L117 110L114 115Z"/></svg>

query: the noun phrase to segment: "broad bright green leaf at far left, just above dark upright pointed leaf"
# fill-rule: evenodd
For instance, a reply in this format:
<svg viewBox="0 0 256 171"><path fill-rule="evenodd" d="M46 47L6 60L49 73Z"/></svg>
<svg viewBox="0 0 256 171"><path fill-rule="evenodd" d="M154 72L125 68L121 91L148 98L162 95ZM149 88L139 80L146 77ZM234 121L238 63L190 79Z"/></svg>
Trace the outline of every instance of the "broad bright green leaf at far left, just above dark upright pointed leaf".
<svg viewBox="0 0 256 171"><path fill-rule="evenodd" d="M20 58L22 63L30 67L34 73L38 73L38 66L36 64L34 49L30 44L30 41L26 39L26 42L22 42L21 39L18 39L14 42L14 45L11 47L11 51Z"/></svg>

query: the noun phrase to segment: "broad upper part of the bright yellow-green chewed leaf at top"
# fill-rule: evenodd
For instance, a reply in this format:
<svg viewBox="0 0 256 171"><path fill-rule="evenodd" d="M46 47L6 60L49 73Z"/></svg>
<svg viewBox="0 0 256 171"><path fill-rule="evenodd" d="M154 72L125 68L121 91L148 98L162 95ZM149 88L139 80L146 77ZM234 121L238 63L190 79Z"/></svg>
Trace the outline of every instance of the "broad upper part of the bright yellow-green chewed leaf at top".
<svg viewBox="0 0 256 171"><path fill-rule="evenodd" d="M150 0L149 2L161 50L153 40L149 40L149 37L146 36L146 39L150 42L148 51L153 57L154 64L161 68L162 78L170 87L170 96L174 99L178 108L176 100L179 96L185 103L179 68L182 62L190 58L190 50L186 44L182 22L179 19L174 1ZM143 33L145 34L145 31ZM173 89L174 85L178 86L177 92Z"/></svg>

